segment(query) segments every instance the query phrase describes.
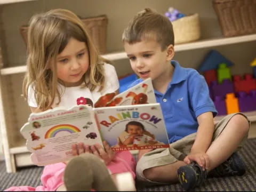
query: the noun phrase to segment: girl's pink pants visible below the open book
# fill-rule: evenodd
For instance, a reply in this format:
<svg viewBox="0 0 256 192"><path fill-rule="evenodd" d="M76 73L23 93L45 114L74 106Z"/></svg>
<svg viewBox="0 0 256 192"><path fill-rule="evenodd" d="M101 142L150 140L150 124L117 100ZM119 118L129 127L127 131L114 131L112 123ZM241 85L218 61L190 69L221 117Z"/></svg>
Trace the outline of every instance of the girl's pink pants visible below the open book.
<svg viewBox="0 0 256 192"><path fill-rule="evenodd" d="M135 164L135 159L130 151L121 151L116 154L113 161L111 161L107 167L112 174L130 172L135 179ZM5 191L55 191L58 187L63 185L62 178L65 167L65 163L46 165L41 176L43 186L10 187Z"/></svg>

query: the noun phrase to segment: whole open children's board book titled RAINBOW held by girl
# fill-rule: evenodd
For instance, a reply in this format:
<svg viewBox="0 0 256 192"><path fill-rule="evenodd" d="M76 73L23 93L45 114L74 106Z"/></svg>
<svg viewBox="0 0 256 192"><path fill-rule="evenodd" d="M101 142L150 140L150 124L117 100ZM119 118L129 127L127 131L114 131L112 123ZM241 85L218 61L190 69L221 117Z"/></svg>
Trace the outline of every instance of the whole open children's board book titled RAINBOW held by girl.
<svg viewBox="0 0 256 192"><path fill-rule="evenodd" d="M95 102L94 108L56 107L30 114L21 134L33 163L42 166L65 162L72 157L71 145L79 142L102 145L106 140L115 151L169 147L151 79L115 97L110 94Z"/></svg>

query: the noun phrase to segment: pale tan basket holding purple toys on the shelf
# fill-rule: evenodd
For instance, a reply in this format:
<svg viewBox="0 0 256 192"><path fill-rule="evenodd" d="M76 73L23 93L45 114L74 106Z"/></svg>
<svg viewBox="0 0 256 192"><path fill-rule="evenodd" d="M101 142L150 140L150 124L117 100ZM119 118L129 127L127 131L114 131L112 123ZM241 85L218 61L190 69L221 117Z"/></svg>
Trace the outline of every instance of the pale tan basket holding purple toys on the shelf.
<svg viewBox="0 0 256 192"><path fill-rule="evenodd" d="M193 42L200 38L199 16L197 13L175 20L172 25L174 44Z"/></svg>

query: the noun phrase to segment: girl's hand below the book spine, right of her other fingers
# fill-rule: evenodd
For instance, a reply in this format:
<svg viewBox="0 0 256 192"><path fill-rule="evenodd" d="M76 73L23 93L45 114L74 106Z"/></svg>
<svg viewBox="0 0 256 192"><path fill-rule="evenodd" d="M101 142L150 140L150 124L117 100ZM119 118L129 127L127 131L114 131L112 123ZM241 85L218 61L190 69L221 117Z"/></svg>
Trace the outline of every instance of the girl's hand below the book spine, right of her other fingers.
<svg viewBox="0 0 256 192"><path fill-rule="evenodd" d="M94 155L97 155L98 157L103 159L105 164L108 165L115 157L116 152L110 148L107 141L103 141L103 146L105 149L100 144L91 146L91 151Z"/></svg>

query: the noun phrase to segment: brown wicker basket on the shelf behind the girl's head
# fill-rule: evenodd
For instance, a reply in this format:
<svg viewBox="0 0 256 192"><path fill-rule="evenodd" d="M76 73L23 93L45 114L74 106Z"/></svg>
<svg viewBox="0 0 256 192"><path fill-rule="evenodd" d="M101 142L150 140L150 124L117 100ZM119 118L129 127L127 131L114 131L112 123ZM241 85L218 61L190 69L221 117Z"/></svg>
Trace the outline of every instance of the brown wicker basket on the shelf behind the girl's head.
<svg viewBox="0 0 256 192"><path fill-rule="evenodd" d="M94 45L101 54L106 53L107 23L106 15L81 19L92 38ZM21 26L20 33L27 45L28 26Z"/></svg>

